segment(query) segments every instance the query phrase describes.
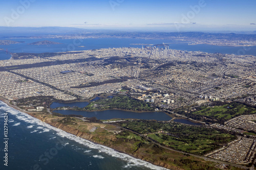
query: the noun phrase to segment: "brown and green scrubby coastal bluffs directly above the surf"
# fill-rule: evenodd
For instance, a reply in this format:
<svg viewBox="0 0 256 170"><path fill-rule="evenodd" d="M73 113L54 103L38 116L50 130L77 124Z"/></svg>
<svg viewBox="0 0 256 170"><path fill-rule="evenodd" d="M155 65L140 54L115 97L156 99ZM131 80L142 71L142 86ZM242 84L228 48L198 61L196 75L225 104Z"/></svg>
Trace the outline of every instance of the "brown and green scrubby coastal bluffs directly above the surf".
<svg viewBox="0 0 256 170"><path fill-rule="evenodd" d="M29 113L31 116L40 119L42 122L45 122L53 127L66 131L70 134L76 135L83 139L90 140L92 142L105 145L106 147L112 148L118 152L128 154L135 158L150 162L152 164L162 166L168 169L173 170L181 170L181 169L198 169L198 168L209 168L210 169L218 169L213 166L209 166L206 161L203 161L200 158L196 158L193 156L187 156L185 154L175 152L172 150L167 150L165 148L160 147L159 145L149 142L146 137L136 136L132 132L121 129L121 132L118 134L114 134L108 131L103 131L104 129L108 129L107 126L114 125L106 125L101 123L90 123L90 122L79 122L77 118L69 118L71 121L67 124L67 117L59 117L56 119L56 116L53 115L45 115L45 114L35 114ZM65 121L63 121L65 119ZM65 123L63 123L65 122ZM78 124L77 124L78 123ZM91 125L93 124L93 125ZM75 128L81 127L81 125L90 127L97 126L98 129L95 132L83 131ZM101 127L101 128L100 128ZM109 127L110 129L115 129L118 127ZM125 136L129 135L130 137L125 138ZM132 137L133 136L133 137Z"/></svg>

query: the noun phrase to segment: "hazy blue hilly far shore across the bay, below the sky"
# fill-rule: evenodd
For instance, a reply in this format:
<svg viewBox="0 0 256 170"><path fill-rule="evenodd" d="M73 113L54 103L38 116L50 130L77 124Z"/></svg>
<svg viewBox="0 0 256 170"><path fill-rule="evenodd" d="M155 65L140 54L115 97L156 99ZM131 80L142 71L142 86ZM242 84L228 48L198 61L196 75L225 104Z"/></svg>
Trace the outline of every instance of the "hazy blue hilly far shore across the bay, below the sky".
<svg viewBox="0 0 256 170"><path fill-rule="evenodd" d="M19 38L19 37L8 37ZM137 38L137 39L168 39L171 41L184 41L190 45L209 44L219 46L253 46L256 45L256 35L234 33L204 33L204 32L95 32L88 33L81 30L79 34L55 34L44 36L26 36L26 38L59 38L59 39L86 39L86 38ZM141 44L144 43L132 43Z"/></svg>

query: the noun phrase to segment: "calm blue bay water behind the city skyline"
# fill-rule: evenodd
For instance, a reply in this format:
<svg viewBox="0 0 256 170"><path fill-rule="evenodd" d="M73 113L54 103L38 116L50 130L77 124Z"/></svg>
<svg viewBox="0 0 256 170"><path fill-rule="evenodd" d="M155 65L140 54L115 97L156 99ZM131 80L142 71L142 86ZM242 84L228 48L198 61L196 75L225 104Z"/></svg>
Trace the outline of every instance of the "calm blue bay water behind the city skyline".
<svg viewBox="0 0 256 170"><path fill-rule="evenodd" d="M99 48L109 47L139 47L142 45L133 45L135 43L144 44L161 44L170 43L169 48L174 50L184 51L202 51L206 53L223 53L223 54L236 54L236 55L254 55L256 56L256 46L251 47L237 47L237 46L217 46L217 45L188 45L187 42L178 42L172 40L145 40L145 39L132 39L132 38L88 38L88 39L28 39L28 38L3 38L1 40L13 40L13 41L25 41L19 44L0 45L0 48L4 51L8 50L11 53L55 53L55 52L67 52L67 51L82 51L93 50ZM54 42L60 42L63 44L54 45L29 45L29 43L49 40ZM84 47L78 47L84 46ZM6 52L0 51L0 60L10 59L11 55Z"/></svg>

